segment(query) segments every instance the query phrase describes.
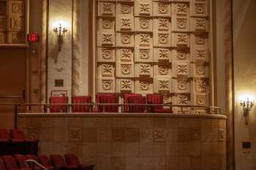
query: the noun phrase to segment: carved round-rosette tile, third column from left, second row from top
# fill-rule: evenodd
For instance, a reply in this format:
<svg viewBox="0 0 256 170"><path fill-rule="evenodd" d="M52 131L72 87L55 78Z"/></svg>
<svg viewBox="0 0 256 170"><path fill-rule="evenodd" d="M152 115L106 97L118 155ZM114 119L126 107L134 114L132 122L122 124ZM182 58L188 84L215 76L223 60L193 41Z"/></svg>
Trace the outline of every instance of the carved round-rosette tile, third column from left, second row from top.
<svg viewBox="0 0 256 170"><path fill-rule="evenodd" d="M135 31L151 32L153 27L153 21L151 18L135 18Z"/></svg>

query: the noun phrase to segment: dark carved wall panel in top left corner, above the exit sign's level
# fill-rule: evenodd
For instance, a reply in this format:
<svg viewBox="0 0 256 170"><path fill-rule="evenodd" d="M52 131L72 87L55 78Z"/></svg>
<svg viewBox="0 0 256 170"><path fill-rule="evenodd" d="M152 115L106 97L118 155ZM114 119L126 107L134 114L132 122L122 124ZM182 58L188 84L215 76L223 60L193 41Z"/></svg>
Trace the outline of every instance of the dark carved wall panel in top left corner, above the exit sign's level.
<svg viewBox="0 0 256 170"><path fill-rule="evenodd" d="M25 43L25 0L0 0L0 44Z"/></svg>

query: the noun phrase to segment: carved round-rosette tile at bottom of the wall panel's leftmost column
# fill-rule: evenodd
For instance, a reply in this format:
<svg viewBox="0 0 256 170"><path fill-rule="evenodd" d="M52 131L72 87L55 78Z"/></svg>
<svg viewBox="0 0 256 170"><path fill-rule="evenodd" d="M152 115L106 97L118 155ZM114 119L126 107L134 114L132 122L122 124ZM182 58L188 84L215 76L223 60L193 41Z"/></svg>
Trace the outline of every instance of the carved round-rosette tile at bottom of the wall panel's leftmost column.
<svg viewBox="0 0 256 170"><path fill-rule="evenodd" d="M115 93L115 79L114 78L98 78L99 93Z"/></svg>

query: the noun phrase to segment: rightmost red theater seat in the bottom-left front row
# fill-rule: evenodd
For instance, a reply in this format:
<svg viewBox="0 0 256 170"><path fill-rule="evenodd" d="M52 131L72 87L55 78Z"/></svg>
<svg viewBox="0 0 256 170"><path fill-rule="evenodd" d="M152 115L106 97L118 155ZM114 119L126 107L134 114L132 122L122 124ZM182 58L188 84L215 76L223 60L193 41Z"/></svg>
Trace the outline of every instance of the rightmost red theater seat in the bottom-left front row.
<svg viewBox="0 0 256 170"><path fill-rule="evenodd" d="M94 166L87 164L81 164L78 157L75 154L65 154L64 155L67 166L75 167L76 169L81 170L92 170Z"/></svg>

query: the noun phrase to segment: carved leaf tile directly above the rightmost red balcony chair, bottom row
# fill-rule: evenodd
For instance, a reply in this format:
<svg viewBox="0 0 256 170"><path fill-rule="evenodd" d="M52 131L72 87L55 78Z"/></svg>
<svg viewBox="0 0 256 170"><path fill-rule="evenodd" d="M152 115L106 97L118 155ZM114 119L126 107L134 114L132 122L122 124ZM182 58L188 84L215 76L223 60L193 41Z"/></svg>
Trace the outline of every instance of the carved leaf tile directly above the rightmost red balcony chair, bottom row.
<svg viewBox="0 0 256 170"><path fill-rule="evenodd" d="M170 93L171 80L168 78L154 78L154 93Z"/></svg>

